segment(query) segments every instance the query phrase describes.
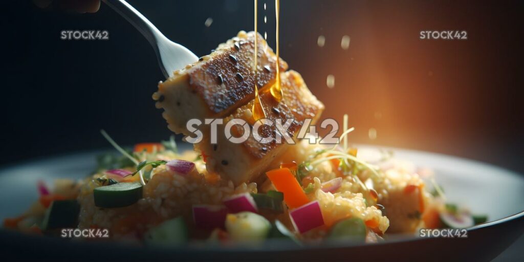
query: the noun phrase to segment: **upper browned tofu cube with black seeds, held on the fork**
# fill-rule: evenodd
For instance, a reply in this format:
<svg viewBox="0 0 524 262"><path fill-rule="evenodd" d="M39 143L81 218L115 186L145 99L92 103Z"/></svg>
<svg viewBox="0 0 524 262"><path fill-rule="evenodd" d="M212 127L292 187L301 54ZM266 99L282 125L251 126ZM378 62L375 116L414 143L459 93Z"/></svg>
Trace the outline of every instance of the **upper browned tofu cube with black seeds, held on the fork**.
<svg viewBox="0 0 524 262"><path fill-rule="evenodd" d="M162 116L170 130L188 135L189 119L225 117L253 100L255 36L258 38L257 86L270 86L275 82L275 53L259 34L241 31L209 56L174 72L173 77L158 84L153 99L157 101L157 108L163 108ZM280 59L280 70L287 68L287 63Z"/></svg>

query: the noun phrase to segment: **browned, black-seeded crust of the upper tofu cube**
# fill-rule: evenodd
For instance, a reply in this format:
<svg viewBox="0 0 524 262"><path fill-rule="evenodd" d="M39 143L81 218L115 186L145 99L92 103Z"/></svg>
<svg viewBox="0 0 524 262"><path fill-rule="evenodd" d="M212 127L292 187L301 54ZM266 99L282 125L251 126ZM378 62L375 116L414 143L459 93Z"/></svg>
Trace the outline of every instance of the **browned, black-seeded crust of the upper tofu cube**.
<svg viewBox="0 0 524 262"><path fill-rule="evenodd" d="M209 56L185 69L174 72L173 77L159 84L162 93L165 86L188 77L190 92L201 97L209 110L209 117L230 114L254 97L255 72L253 71L255 36L258 38L257 86L262 88L275 81L276 55L260 34L238 33L237 37L219 45ZM288 64L280 59L280 70Z"/></svg>

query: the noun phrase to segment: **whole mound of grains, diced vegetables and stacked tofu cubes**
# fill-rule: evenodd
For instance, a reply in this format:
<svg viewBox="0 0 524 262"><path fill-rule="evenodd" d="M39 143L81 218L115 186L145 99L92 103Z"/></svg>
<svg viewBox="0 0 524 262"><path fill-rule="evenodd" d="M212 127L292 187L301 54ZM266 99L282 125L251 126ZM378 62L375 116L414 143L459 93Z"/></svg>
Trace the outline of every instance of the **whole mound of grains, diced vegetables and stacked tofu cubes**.
<svg viewBox="0 0 524 262"><path fill-rule="evenodd" d="M241 31L159 83L153 99L169 129L187 136L193 134L190 119L220 119L223 125L242 119L253 128L259 103L265 119L292 119L287 132L297 143L262 143L253 135L233 143L223 128L213 141L213 130L204 125L194 151L179 152L173 137L125 150L103 132L122 156L100 156L96 171L80 181L56 180L52 189L38 182L38 201L4 227L46 235L99 228L111 239L156 246L253 245L271 238L301 245L374 243L386 233L486 221L446 203L430 171L388 151L366 154L347 146L353 129L344 130L344 146L297 139L307 121L318 121L324 105L298 72L277 61L260 35ZM277 131L260 129L263 137L275 138ZM233 126L235 137L242 132Z"/></svg>

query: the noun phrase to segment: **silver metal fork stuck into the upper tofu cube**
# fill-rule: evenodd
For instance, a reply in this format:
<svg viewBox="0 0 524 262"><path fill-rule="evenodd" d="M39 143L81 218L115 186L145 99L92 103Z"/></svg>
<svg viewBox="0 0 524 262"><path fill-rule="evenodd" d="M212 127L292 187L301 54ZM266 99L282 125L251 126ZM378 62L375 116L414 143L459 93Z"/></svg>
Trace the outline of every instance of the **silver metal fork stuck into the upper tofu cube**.
<svg viewBox="0 0 524 262"><path fill-rule="evenodd" d="M124 0L102 0L123 16L149 41L158 58L160 70L169 78L173 71L198 61L198 57L182 45L169 40L140 12Z"/></svg>

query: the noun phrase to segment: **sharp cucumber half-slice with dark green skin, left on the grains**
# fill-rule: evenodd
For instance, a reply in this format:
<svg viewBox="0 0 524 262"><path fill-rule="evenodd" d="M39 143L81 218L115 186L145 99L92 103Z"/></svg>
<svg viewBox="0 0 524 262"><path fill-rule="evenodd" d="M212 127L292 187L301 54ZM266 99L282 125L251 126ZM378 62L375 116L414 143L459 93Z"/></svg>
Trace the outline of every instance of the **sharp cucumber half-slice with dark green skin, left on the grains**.
<svg viewBox="0 0 524 262"><path fill-rule="evenodd" d="M99 208L122 208L132 205L142 198L142 189L140 183L117 183L95 188L95 205Z"/></svg>

